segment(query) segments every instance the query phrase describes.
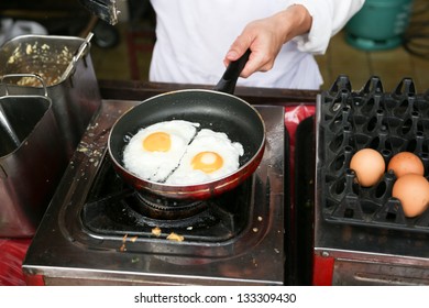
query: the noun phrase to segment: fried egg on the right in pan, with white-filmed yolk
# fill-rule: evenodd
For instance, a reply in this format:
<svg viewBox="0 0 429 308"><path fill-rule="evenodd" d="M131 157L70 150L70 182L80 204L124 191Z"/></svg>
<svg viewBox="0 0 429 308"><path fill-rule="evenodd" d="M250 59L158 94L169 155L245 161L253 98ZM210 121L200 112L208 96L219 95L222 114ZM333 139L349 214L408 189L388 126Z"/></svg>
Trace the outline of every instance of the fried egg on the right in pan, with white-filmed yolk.
<svg viewBox="0 0 429 308"><path fill-rule="evenodd" d="M178 168L167 184L194 185L211 182L235 172L243 145L226 133L202 129L189 144Z"/></svg>

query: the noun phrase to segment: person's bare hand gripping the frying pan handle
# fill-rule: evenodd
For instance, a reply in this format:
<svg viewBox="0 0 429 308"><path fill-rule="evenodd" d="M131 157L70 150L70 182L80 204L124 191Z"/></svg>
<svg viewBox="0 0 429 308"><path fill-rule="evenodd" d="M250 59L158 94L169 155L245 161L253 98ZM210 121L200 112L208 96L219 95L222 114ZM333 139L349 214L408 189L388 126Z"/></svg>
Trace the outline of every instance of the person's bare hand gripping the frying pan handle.
<svg viewBox="0 0 429 308"><path fill-rule="evenodd" d="M239 59L244 52L252 51L241 77L248 78L255 72L267 72L273 65L283 44L293 37L307 33L312 18L302 6L290 6L270 18L249 23L232 43L223 59L226 66Z"/></svg>

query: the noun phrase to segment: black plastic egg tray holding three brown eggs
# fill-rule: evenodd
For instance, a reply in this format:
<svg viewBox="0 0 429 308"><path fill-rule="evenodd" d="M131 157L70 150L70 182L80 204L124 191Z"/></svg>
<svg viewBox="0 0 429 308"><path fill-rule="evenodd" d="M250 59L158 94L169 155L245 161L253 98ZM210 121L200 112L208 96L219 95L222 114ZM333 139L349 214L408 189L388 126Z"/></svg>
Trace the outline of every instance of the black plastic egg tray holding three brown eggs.
<svg viewBox="0 0 429 308"><path fill-rule="evenodd" d="M371 77L353 91L348 76L339 76L317 100L316 202L326 221L429 233L429 209L416 218L404 216L392 197L392 172L373 187L361 187L350 168L351 157L364 147L377 150L386 166L393 155L418 155L429 176L429 91L417 94L404 78L384 92L382 80Z"/></svg>

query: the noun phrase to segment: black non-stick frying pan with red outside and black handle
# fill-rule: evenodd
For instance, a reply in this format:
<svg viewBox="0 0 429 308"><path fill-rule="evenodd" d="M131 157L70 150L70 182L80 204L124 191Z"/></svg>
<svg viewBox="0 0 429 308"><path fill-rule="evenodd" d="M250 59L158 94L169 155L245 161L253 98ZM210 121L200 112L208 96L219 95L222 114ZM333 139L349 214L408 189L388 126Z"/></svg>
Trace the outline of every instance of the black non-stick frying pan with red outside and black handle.
<svg viewBox="0 0 429 308"><path fill-rule="evenodd" d="M261 114L246 101L233 96L241 70L249 59L248 51L231 63L213 90L185 89L162 94L142 101L113 124L108 150L113 167L122 179L139 191L168 199L208 199L243 183L261 163L265 148L265 125ZM185 120L200 123L199 129L224 132L240 142L244 155L237 172L198 185L170 185L140 178L123 165L123 150L140 129L157 122Z"/></svg>

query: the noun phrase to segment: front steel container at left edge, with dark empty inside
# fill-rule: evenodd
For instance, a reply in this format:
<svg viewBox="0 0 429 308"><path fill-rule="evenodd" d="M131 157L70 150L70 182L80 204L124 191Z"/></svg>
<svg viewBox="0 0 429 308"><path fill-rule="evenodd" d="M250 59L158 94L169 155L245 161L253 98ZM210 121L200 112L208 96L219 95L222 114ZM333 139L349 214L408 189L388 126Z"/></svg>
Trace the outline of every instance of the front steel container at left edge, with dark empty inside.
<svg viewBox="0 0 429 308"><path fill-rule="evenodd" d="M48 97L8 95L0 105L18 140L0 128L0 237L31 237L66 168L65 150Z"/></svg>

